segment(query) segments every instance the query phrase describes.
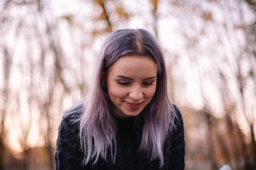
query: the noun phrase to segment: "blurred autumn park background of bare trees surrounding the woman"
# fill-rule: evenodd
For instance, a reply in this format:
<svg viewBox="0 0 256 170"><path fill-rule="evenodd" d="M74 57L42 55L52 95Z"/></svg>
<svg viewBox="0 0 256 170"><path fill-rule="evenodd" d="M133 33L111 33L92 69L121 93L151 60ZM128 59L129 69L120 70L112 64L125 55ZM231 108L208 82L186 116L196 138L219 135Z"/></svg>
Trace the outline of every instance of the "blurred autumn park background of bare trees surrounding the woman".
<svg viewBox="0 0 256 170"><path fill-rule="evenodd" d="M186 169L256 169L255 0L1 0L0 169L54 169L62 112L123 28L163 47Z"/></svg>

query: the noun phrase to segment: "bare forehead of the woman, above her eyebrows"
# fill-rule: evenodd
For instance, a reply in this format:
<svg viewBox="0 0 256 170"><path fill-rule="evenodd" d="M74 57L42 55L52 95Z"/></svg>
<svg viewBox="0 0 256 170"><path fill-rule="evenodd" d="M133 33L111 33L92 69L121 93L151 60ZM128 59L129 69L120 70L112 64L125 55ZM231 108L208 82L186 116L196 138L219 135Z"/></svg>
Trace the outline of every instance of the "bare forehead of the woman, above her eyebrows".
<svg viewBox="0 0 256 170"><path fill-rule="evenodd" d="M156 76L157 64L153 59L145 55L127 55L116 60L116 62L109 67L108 74Z"/></svg>

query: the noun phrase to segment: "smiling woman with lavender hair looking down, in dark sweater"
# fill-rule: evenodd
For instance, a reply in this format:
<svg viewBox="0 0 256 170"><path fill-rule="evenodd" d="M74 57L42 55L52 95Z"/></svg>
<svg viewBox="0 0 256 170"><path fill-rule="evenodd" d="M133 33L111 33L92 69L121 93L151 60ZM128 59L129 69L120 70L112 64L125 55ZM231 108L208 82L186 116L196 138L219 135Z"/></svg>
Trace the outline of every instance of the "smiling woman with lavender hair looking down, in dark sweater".
<svg viewBox="0 0 256 170"><path fill-rule="evenodd" d="M92 89L65 111L56 169L184 169L184 128L163 52L143 29L113 32Z"/></svg>

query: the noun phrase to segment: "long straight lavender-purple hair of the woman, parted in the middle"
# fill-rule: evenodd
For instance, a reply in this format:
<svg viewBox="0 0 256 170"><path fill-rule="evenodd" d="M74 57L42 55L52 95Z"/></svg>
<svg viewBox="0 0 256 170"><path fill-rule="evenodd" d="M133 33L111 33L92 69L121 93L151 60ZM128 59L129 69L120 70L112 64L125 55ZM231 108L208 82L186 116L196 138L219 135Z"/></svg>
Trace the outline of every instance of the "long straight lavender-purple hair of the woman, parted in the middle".
<svg viewBox="0 0 256 170"><path fill-rule="evenodd" d="M108 68L125 55L146 55L157 63L156 93L136 117L136 121L143 120L140 150L147 153L150 160L159 159L159 166L163 167L164 139L175 126L176 114L167 95L163 52L156 39L143 29L115 31L102 46L92 80L93 85L84 97L83 111L79 117L79 137L84 151L84 164L95 163L99 157L107 160L108 151L111 153L111 160L115 162L116 124L109 111L111 101L108 90L102 88L101 81Z"/></svg>

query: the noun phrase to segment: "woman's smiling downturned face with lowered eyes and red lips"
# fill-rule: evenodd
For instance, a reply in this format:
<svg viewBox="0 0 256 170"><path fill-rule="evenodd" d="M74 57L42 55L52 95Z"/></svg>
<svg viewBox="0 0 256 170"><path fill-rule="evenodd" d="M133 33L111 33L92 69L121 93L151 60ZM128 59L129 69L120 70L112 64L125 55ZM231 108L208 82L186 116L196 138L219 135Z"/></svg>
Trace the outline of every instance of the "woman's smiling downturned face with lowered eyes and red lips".
<svg viewBox="0 0 256 170"><path fill-rule="evenodd" d="M157 64L147 56L120 57L109 67L106 82L115 117L137 116L156 92Z"/></svg>

